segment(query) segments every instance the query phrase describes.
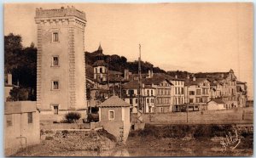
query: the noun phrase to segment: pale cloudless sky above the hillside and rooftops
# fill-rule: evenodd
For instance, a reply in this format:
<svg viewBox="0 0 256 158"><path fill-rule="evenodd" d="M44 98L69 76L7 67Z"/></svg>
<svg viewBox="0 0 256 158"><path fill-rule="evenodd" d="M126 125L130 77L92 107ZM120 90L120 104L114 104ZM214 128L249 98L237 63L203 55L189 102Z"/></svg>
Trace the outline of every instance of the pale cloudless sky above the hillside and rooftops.
<svg viewBox="0 0 256 158"><path fill-rule="evenodd" d="M36 8L86 14L85 50L138 57L165 71L212 72L232 68L253 97L253 3L12 3L4 6L4 35L20 34L37 45Z"/></svg>

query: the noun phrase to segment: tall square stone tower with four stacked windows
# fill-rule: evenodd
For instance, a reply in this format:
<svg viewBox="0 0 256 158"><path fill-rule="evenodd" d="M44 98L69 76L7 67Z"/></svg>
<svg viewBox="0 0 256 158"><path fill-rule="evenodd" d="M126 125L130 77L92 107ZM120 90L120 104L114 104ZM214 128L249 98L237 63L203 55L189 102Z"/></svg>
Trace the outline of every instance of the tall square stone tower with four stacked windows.
<svg viewBox="0 0 256 158"><path fill-rule="evenodd" d="M41 118L61 119L67 111L86 114L84 12L74 7L37 8L37 106Z"/></svg>

